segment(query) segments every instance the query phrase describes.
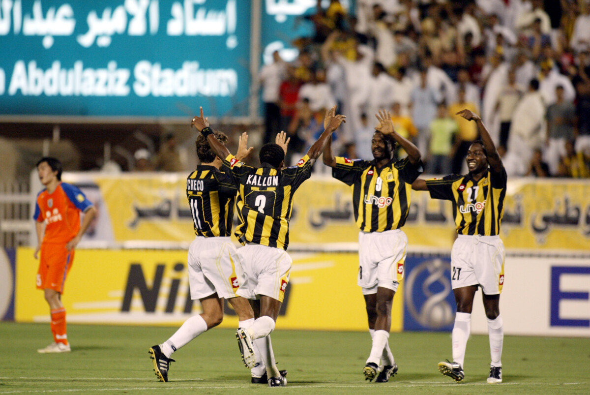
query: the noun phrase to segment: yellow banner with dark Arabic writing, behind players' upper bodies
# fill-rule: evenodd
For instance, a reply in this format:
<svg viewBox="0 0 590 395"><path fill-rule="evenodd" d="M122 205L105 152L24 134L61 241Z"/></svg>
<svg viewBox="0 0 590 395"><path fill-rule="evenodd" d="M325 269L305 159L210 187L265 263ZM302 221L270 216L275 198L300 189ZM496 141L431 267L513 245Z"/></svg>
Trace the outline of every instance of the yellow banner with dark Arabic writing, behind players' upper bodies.
<svg viewBox="0 0 590 395"><path fill-rule="evenodd" d="M130 241L183 242L194 237L185 174L64 175L80 184L99 210L86 238L108 246ZM590 183L555 179L509 179L501 237L508 249L590 249ZM234 220L234 225L235 225ZM410 249L450 249L455 239L452 206L412 191L404 226ZM290 246L324 249L356 243L352 192L333 178L312 177L297 190ZM152 247L150 245L150 247Z"/></svg>

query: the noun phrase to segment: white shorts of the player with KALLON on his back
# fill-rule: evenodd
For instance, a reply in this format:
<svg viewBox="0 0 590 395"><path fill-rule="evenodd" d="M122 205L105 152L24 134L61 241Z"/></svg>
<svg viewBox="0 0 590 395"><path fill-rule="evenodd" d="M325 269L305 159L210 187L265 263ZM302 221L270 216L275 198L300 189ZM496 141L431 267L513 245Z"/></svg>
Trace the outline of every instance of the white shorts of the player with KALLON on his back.
<svg viewBox="0 0 590 395"><path fill-rule="evenodd" d="M270 296L283 302L289 283L291 257L276 247L248 243L237 251L242 265L238 295L247 299Z"/></svg>

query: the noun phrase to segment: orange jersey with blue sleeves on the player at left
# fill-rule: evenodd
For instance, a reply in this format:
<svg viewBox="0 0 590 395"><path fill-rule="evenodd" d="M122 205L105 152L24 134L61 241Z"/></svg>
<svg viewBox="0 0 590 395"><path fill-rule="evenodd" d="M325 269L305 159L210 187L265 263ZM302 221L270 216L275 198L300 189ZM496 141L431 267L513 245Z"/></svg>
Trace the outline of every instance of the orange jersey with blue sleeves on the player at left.
<svg viewBox="0 0 590 395"><path fill-rule="evenodd" d="M34 219L45 222L43 243L65 244L80 230L80 211L92 203L74 185L60 182L53 193L46 189L37 195Z"/></svg>

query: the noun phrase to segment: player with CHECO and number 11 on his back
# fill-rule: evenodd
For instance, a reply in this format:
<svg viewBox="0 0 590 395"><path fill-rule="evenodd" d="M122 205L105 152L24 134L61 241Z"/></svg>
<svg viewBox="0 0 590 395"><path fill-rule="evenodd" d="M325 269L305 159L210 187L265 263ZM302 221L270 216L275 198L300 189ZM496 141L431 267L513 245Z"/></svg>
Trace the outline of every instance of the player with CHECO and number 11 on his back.
<svg viewBox="0 0 590 395"><path fill-rule="evenodd" d="M227 142L224 133L215 133L220 144ZM238 155L246 154L247 141L240 138ZM237 294L241 266L230 240L232 213L237 188L219 171L221 159L199 135L196 155L201 161L186 179L186 196L191 207L195 240L188 250L188 276L191 299L199 299L202 314L192 316L168 340L149 349L153 368L160 381L168 381L171 355L203 332L221 324L223 299L232 305L240 326L254 322L254 311L247 299ZM245 323L245 324L244 324ZM254 360L254 358L253 358Z"/></svg>

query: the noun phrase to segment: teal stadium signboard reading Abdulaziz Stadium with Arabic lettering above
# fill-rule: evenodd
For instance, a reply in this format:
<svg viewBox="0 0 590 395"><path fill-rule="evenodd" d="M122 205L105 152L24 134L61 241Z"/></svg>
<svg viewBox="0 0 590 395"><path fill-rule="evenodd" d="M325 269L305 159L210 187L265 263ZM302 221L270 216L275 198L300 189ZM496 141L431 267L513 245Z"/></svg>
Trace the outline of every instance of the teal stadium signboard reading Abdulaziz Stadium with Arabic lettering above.
<svg viewBox="0 0 590 395"><path fill-rule="evenodd" d="M248 1L4 0L0 9L0 115L186 116L197 101L210 116L247 115L238 103L250 87Z"/></svg>

